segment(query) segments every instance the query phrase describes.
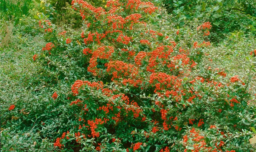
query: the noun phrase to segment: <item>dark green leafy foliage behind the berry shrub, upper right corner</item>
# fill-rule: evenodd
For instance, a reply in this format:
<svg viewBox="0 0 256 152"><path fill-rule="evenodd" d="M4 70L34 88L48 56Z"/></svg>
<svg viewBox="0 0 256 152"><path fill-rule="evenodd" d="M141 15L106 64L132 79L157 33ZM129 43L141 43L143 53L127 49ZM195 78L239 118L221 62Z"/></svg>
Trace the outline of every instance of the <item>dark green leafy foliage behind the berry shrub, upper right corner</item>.
<svg viewBox="0 0 256 152"><path fill-rule="evenodd" d="M256 34L256 1L254 0L162 0L177 27L194 20L212 23L212 39L220 41L225 34Z"/></svg>

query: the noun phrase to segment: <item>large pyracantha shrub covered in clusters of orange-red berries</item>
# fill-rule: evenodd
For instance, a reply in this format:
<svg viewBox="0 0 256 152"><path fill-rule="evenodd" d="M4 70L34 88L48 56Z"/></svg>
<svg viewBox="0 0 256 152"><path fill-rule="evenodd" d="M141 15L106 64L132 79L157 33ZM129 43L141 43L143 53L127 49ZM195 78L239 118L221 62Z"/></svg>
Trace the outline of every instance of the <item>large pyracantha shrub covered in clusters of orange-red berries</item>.
<svg viewBox="0 0 256 152"><path fill-rule="evenodd" d="M70 86L64 103L73 122L54 139L56 149L237 152L243 145L253 151L248 130L255 113L243 117L255 110L247 104L249 80L210 66L210 22L194 27L192 38L165 31L154 21L161 9L151 2L110 0L96 8L73 0L72 8L84 24L73 37L39 21L45 35L52 34L41 51L44 65L59 71L54 61L66 53L63 60L84 70L74 74L90 75ZM191 38L185 43L173 36ZM63 102L59 95L52 98Z"/></svg>

